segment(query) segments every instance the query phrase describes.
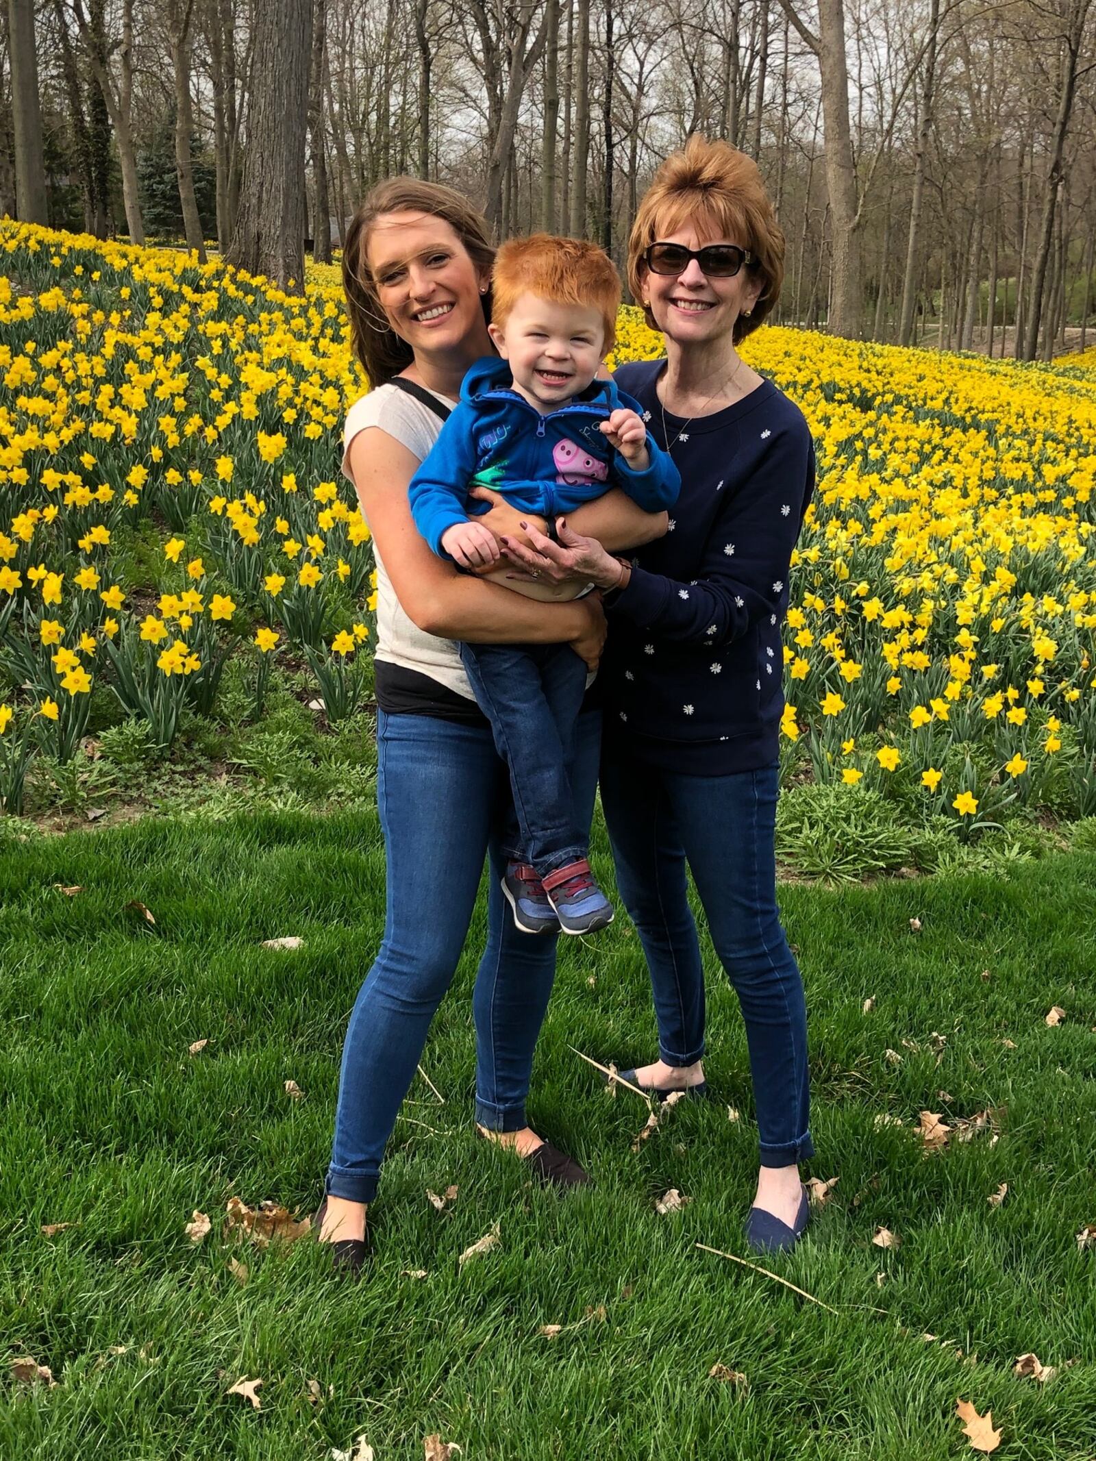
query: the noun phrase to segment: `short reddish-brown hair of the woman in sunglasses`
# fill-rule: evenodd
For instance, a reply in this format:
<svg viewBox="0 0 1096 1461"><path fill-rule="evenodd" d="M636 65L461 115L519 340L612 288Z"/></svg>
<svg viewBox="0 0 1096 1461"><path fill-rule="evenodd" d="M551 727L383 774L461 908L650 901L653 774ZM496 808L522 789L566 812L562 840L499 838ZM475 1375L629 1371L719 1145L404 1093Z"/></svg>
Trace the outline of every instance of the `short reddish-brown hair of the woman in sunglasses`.
<svg viewBox="0 0 1096 1461"><path fill-rule="evenodd" d="M643 298L643 254L650 244L691 222L710 224L754 256L748 267L761 276L761 294L750 317L739 314L735 320L738 343L780 298L785 238L754 159L729 142L709 142L697 133L681 152L671 152L640 200L628 237L628 288L634 300ZM650 310L643 313L658 329Z"/></svg>

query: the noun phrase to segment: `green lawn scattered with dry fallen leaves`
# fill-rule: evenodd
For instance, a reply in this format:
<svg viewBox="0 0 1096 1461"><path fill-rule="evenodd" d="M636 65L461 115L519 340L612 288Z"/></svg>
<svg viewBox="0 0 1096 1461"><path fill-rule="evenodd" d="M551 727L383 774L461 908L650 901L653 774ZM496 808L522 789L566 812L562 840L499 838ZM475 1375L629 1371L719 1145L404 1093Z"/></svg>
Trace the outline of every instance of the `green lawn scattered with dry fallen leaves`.
<svg viewBox="0 0 1096 1461"><path fill-rule="evenodd" d="M462 1461L943 1461L970 1454L962 1395L992 1408L1002 1461L1090 1461L1096 1252L1076 1233L1096 1223L1096 856L1008 878L785 887L782 903L811 1012L811 1170L840 1180L810 1237L767 1267L836 1313L694 1246L744 1254L753 1195L745 1045L722 976L718 1100L677 1107L639 1153L643 1103L608 1100L570 1053L653 1053L623 919L564 941L533 1077L536 1125L596 1188L533 1188L473 1135L479 922L424 1055L444 1105L416 1080L373 1210L371 1274L346 1286L311 1240L224 1245L219 1214L234 1194L319 1199L342 1031L383 915L376 818L145 820L0 842L0 1455L321 1461L365 1433L392 1461L440 1432ZM257 947L283 934L304 948ZM1048 1029L1054 1004L1068 1018ZM995 1144L922 1154L921 1109L986 1106L1005 1107ZM438 1216L425 1188L450 1182L459 1198ZM659 1217L671 1186L691 1204ZM200 1248L183 1230L193 1208L215 1220ZM460 1268L494 1221L501 1246ZM897 1251L871 1245L880 1224ZM425 1280L406 1275L419 1268ZM579 1322L599 1305L604 1322ZM577 1327L547 1340L544 1324ZM1013 1376L1026 1350L1058 1378ZM20 1354L60 1384L16 1386ZM748 1389L709 1379L716 1362ZM262 1376L262 1411L225 1395L241 1376Z"/></svg>

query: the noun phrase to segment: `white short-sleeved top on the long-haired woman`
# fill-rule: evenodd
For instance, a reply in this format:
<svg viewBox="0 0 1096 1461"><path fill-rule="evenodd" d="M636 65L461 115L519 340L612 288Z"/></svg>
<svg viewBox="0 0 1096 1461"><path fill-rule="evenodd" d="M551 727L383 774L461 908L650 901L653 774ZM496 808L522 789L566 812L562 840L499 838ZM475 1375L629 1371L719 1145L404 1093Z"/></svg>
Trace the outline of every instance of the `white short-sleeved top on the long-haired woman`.
<svg viewBox="0 0 1096 1461"><path fill-rule="evenodd" d="M456 402L447 396L437 392L431 392L431 394L437 396L438 402L449 406L450 411L456 406ZM359 431L367 431L370 427L386 431L422 462L437 440L441 418L434 415L430 406L424 406L397 386L378 386L368 396L355 400L346 412L346 427L342 435L342 470L351 482L354 481L349 462L351 441ZM463 695L465 700L475 700L453 640L425 634L408 618L377 552L376 541L373 551L377 561L377 647L374 659L415 669L419 675L427 675L438 685L444 685L446 690Z"/></svg>

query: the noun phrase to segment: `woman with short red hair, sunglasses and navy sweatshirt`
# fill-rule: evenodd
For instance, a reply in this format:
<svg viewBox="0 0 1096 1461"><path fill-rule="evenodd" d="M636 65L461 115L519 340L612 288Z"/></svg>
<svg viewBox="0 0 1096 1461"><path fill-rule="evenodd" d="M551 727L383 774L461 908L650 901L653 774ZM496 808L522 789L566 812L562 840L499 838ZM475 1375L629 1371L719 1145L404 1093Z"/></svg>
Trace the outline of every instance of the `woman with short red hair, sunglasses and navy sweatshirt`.
<svg viewBox="0 0 1096 1461"><path fill-rule="evenodd" d="M661 167L628 244L628 282L666 356L617 381L681 472L665 538L621 561L560 532L513 557L605 592L601 792L621 897L650 970L659 1058L627 1080L665 1099L703 1093L704 974L685 866L738 992L761 1167L747 1218L756 1249L807 1226L802 980L776 906L780 622L814 485L798 411L738 354L776 304L783 235L754 162L691 137Z"/></svg>

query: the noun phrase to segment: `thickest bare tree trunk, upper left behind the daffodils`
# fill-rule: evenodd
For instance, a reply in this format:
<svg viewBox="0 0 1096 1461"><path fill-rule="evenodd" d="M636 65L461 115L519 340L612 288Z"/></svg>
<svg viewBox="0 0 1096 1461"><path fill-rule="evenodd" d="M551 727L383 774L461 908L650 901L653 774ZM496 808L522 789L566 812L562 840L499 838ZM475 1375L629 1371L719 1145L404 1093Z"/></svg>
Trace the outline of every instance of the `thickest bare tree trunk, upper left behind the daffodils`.
<svg viewBox="0 0 1096 1461"><path fill-rule="evenodd" d="M265 0L244 183L228 262L304 291L304 143L311 0Z"/></svg>

